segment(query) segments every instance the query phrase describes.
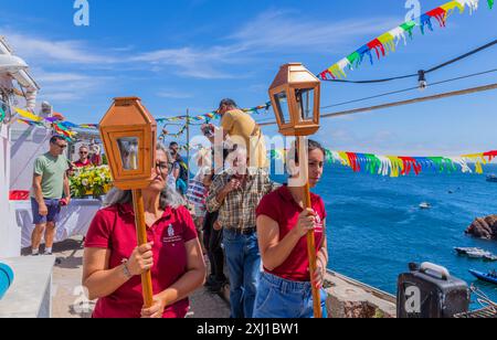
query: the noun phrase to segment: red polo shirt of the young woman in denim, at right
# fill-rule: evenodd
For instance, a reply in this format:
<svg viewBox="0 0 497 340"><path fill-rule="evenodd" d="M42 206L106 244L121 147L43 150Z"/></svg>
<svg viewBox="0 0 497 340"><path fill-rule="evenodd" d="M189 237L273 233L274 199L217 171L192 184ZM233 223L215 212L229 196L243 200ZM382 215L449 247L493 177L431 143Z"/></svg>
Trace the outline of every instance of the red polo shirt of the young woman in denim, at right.
<svg viewBox="0 0 497 340"><path fill-rule="evenodd" d="M310 193L313 210L318 216L318 226L316 227L316 251L319 251L324 241L324 223L326 219L325 203L322 199ZM295 202L288 188L282 187L278 190L265 195L257 206L256 214L265 215L279 225L279 241L297 225L298 215L303 212L300 205ZM264 268L266 273L293 281L310 281L309 259L307 256L307 237L304 236L292 251L288 258L274 270Z"/></svg>

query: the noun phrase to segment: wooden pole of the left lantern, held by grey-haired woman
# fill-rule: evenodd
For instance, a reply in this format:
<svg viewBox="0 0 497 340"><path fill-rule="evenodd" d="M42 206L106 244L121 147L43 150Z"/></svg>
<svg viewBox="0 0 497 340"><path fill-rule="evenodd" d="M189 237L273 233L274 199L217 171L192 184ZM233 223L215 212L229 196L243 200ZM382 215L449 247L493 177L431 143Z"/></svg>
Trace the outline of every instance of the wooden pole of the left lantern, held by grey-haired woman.
<svg viewBox="0 0 497 340"><path fill-rule="evenodd" d="M148 243L147 240L147 225L145 224L145 206L144 196L140 189L133 190L133 205L135 208L135 223L138 246ZM141 288L144 290L145 307L150 308L154 305L154 288L151 284L151 273L141 274Z"/></svg>

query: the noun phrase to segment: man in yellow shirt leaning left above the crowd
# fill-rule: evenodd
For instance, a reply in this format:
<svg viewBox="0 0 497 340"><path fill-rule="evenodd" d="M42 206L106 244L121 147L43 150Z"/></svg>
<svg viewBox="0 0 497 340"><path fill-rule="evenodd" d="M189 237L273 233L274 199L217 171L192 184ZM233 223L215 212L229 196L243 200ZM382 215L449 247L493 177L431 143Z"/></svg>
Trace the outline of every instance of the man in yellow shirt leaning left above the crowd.
<svg viewBox="0 0 497 340"><path fill-rule="evenodd" d="M212 124L202 126L202 131L214 147L219 147L218 144L229 139L232 145L243 146L248 150L250 167L267 168L264 135L252 116L241 110L230 98L221 100L218 114L222 117L220 129ZM222 135L220 135L221 132Z"/></svg>

